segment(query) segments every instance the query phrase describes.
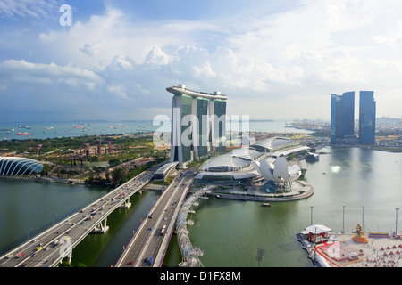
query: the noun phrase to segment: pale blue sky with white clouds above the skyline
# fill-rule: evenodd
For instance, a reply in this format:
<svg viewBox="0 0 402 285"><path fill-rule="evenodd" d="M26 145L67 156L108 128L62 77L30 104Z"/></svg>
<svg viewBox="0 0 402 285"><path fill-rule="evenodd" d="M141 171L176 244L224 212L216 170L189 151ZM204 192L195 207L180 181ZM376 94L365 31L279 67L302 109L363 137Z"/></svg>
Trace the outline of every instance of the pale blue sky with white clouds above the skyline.
<svg viewBox="0 0 402 285"><path fill-rule="evenodd" d="M401 118L401 48L400 0L0 0L0 123L170 117L180 83L230 116L328 121L355 91L358 118L371 90Z"/></svg>

